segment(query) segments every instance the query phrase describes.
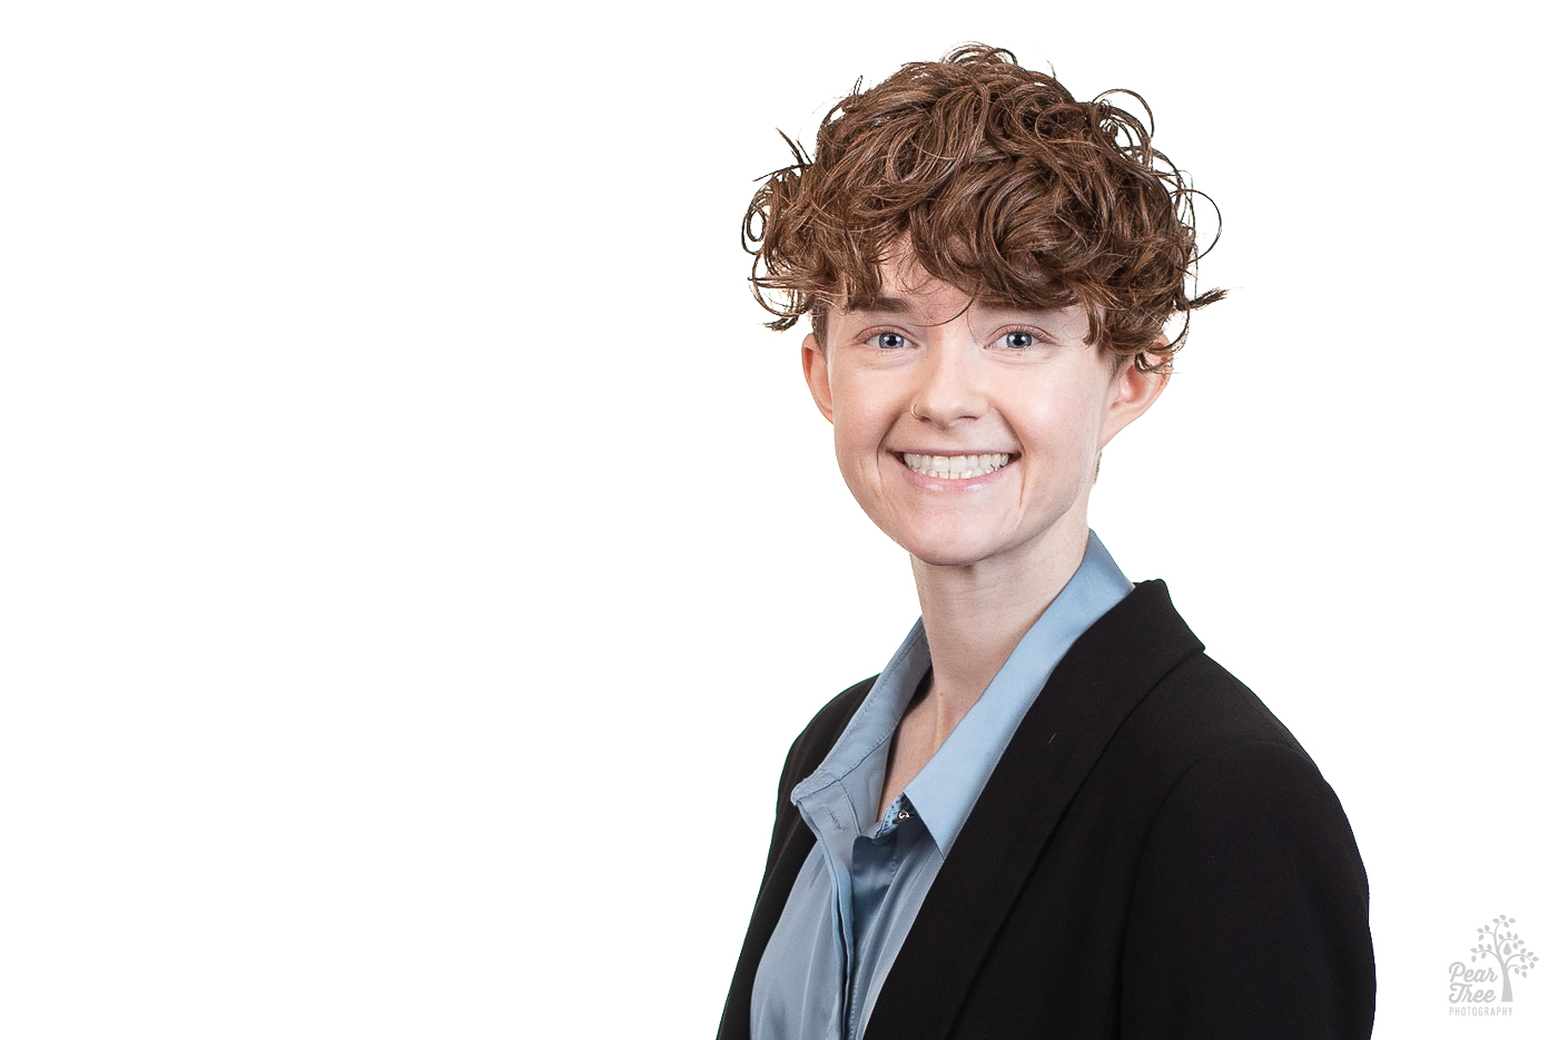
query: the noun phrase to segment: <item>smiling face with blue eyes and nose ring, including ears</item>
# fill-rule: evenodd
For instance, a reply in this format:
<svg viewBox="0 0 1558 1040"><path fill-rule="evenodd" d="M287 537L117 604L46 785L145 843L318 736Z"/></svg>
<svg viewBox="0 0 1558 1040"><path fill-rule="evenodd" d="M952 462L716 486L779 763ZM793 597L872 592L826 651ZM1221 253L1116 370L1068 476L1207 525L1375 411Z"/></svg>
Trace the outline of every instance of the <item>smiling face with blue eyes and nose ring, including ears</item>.
<svg viewBox="0 0 1558 1040"><path fill-rule="evenodd" d="M1042 563L1086 541L1098 452L1164 377L1084 343L1077 307L972 304L918 264L829 313L802 363L855 501L918 560Z"/></svg>

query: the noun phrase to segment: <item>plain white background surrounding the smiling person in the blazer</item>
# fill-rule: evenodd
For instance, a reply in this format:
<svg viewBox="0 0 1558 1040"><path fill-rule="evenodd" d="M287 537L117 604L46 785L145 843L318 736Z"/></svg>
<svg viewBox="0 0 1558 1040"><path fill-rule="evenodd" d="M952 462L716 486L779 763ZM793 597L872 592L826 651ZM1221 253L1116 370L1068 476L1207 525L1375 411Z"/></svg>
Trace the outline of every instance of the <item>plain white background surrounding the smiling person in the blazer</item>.
<svg viewBox="0 0 1558 1040"><path fill-rule="evenodd" d="M1446 999L1558 951L1524 6L8 8L0 1032L712 1035L788 741L916 616L740 215L980 39L1221 206L1092 522L1340 792L1376 1035L1552 1035L1558 960Z"/></svg>

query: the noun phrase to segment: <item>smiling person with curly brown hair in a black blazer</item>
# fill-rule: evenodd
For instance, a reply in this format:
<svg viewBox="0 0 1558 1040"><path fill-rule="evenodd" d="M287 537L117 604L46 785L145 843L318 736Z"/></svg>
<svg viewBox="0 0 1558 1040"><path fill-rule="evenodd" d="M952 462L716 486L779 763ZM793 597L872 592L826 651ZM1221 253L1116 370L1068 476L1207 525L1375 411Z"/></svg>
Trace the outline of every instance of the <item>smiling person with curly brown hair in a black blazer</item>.
<svg viewBox="0 0 1558 1040"><path fill-rule="evenodd" d="M753 282L922 621L798 738L721 1038L1362 1037L1331 787L1087 529L1183 343L1190 192L1008 51L844 98L760 187Z"/></svg>

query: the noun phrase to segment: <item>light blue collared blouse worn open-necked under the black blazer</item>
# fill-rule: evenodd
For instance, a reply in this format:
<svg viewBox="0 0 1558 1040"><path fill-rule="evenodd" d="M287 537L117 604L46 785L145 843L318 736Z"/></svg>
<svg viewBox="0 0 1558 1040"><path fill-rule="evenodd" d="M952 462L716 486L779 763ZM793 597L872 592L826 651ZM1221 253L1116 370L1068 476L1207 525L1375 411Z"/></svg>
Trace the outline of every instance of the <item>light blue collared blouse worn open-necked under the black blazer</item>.
<svg viewBox="0 0 1558 1040"><path fill-rule="evenodd" d="M1070 582L924 769L876 819L893 731L930 670L922 622L790 800L816 845L757 967L753 1040L857 1040L919 904L1050 672L1131 591L1089 533Z"/></svg>

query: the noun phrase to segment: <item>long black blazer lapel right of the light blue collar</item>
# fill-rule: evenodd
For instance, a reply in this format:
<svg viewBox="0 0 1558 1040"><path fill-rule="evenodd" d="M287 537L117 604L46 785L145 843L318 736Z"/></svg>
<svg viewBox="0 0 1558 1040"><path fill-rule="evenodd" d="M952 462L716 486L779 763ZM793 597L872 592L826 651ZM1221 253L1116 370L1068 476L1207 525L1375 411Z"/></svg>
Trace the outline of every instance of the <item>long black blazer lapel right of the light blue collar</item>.
<svg viewBox="0 0 1558 1040"><path fill-rule="evenodd" d="M925 893L866 1023L868 1040L950 1032L985 953L1109 739L1170 669L1201 649L1162 582L1137 585L1077 639Z"/></svg>

